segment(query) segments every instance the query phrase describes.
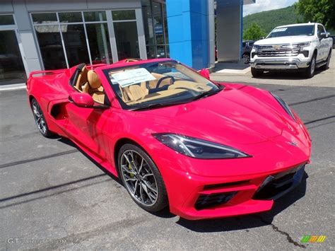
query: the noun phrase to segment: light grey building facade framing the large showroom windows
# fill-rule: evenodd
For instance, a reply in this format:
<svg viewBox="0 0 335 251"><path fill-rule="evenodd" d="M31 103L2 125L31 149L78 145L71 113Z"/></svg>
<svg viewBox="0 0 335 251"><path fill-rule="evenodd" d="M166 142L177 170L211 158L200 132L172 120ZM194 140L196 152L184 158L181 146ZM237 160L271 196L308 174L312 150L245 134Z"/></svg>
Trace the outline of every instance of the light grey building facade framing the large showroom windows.
<svg viewBox="0 0 335 251"><path fill-rule="evenodd" d="M141 8L141 0L1 0L0 14L13 13L19 33L19 45L23 48L23 61L27 74L43 68L37 41L35 40L33 25L30 20L32 12L48 11L87 11L106 9L134 9ZM136 15L142 15L141 10ZM143 22L138 23L139 46L145 49ZM140 48L141 52L141 48ZM146 54L141 54L141 57Z"/></svg>

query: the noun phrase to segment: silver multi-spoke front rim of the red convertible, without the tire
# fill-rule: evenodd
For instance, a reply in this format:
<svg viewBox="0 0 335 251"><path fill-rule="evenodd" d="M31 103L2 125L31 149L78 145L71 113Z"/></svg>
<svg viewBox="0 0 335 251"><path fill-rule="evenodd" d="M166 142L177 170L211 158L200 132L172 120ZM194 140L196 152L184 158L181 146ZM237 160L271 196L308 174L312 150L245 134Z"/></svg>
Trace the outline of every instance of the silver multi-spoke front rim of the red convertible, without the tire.
<svg viewBox="0 0 335 251"><path fill-rule="evenodd" d="M158 199L158 186L153 171L141 156L134 150L122 153L120 170L126 188L136 202L152 206Z"/></svg>

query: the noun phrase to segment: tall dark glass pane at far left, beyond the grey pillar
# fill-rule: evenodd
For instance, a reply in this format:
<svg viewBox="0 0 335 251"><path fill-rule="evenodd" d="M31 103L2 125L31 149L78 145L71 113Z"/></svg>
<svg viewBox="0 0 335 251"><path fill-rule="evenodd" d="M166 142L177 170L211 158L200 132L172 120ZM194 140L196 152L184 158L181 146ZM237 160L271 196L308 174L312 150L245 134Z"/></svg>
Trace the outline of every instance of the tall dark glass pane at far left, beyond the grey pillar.
<svg viewBox="0 0 335 251"><path fill-rule="evenodd" d="M15 31L1 30L0 41L0 86L25 83L27 75Z"/></svg>

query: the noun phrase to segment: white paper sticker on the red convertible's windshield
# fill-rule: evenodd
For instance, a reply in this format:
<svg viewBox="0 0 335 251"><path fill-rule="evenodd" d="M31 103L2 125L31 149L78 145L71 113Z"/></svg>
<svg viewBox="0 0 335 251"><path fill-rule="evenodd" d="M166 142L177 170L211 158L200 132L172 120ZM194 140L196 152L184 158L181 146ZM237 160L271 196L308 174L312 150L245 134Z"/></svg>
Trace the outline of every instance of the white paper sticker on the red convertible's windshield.
<svg viewBox="0 0 335 251"><path fill-rule="evenodd" d="M156 78L145 68L132 69L110 74L112 83L118 83L121 87L131 86L135 83L155 80Z"/></svg>

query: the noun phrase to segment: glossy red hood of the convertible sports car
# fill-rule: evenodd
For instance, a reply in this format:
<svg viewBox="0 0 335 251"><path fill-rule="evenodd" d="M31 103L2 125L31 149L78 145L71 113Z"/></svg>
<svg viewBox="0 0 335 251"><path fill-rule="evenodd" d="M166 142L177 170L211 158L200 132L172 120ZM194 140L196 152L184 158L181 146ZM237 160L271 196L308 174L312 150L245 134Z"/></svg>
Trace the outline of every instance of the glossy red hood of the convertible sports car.
<svg viewBox="0 0 335 251"><path fill-rule="evenodd" d="M271 95L266 92L266 96ZM136 114L138 119L150 121L154 132L184 134L230 146L267 141L281 135L286 127L280 113L252 91L232 88L191 103Z"/></svg>

